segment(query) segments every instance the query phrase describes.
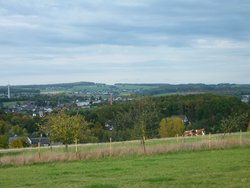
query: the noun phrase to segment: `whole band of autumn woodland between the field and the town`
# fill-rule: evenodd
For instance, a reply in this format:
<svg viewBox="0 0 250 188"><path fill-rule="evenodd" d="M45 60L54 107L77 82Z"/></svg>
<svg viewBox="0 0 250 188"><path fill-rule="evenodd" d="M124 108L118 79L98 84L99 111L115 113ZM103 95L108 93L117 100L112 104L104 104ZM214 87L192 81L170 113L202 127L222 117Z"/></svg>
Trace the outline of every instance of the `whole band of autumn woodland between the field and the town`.
<svg viewBox="0 0 250 188"><path fill-rule="evenodd" d="M60 118L61 122L55 121ZM184 130L204 128L206 133L247 131L250 128L250 103L243 103L233 96L191 94L137 97L132 101L90 109L64 108L45 117L1 110L0 148L11 147L8 139L14 135L32 138L42 134L64 144L74 143L75 139L86 143L107 142L110 138L113 141L159 138L164 135L160 134L160 122L164 118L180 118ZM67 143L56 134L48 134L53 125L78 130L70 124L79 125L82 134L74 137L70 131L65 133L65 137L69 138ZM25 143L22 146L25 147Z"/></svg>

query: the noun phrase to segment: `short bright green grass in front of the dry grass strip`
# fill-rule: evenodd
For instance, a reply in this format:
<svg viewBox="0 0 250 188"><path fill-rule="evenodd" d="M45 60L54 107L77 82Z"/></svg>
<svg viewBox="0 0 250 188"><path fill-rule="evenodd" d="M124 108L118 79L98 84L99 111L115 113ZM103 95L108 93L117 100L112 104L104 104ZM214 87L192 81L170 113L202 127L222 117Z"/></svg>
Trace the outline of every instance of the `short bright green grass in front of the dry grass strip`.
<svg viewBox="0 0 250 188"><path fill-rule="evenodd" d="M250 187L250 149L0 167L0 187Z"/></svg>

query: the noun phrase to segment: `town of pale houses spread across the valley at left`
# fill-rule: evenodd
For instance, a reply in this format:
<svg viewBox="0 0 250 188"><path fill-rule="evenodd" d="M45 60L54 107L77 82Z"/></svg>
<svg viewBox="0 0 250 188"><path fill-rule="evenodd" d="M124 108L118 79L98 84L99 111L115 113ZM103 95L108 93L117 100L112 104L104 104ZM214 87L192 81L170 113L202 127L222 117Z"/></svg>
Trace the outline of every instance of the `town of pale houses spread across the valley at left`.
<svg viewBox="0 0 250 188"><path fill-rule="evenodd" d="M81 83L82 84L82 83ZM85 83L86 84L86 83ZM90 83L88 83L90 84ZM1 86L0 109L6 112L23 113L33 117L44 117L54 110L65 107L72 109L89 109L106 104L133 100L144 91L141 86L127 86L122 84L105 85L91 83L87 86L77 85L71 89L59 86ZM74 85L74 84L72 84ZM154 91L154 85L150 90ZM149 90L149 91L150 91ZM171 93L170 93L171 94ZM239 96L241 102L250 101L249 94Z"/></svg>

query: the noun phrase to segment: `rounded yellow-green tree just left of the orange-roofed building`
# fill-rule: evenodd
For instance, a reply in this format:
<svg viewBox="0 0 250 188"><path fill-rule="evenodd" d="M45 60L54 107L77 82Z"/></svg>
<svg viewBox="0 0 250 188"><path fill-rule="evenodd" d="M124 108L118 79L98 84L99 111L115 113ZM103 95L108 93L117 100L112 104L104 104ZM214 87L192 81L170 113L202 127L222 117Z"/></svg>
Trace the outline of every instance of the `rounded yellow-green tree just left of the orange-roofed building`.
<svg viewBox="0 0 250 188"><path fill-rule="evenodd" d="M163 118L160 122L159 134L161 137L174 137L181 135L185 129L179 117Z"/></svg>

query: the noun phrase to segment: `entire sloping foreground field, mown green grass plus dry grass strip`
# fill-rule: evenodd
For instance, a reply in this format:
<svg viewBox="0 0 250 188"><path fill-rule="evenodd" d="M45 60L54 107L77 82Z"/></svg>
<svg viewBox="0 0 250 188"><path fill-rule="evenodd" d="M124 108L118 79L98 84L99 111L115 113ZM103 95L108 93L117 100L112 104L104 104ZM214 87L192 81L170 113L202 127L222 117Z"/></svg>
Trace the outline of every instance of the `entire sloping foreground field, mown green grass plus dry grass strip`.
<svg viewBox="0 0 250 188"><path fill-rule="evenodd" d="M78 155L74 145L1 150L0 187L249 187L249 141L234 133L146 140L146 153L139 140L83 144Z"/></svg>

